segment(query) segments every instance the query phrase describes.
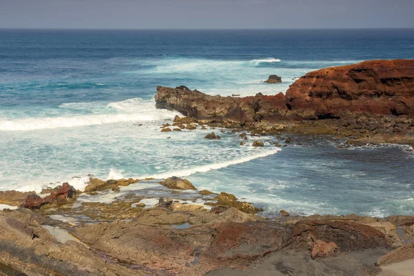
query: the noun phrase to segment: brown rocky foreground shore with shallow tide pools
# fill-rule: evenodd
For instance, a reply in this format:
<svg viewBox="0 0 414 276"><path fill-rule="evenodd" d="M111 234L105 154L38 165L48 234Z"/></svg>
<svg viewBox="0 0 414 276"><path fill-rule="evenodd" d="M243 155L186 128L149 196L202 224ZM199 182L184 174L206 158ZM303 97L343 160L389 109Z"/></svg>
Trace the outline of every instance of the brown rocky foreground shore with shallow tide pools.
<svg viewBox="0 0 414 276"><path fill-rule="evenodd" d="M0 275L382 275L414 256L414 217L269 219L179 177L6 194Z"/></svg>

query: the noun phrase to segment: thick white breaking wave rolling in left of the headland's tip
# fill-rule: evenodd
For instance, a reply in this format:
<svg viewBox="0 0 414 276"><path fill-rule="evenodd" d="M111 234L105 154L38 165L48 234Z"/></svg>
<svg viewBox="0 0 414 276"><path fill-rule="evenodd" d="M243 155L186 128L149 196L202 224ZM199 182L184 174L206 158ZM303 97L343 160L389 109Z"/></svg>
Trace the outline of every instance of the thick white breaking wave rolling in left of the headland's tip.
<svg viewBox="0 0 414 276"><path fill-rule="evenodd" d="M68 108L69 103L61 105ZM74 103L73 106L85 108L88 104ZM72 128L77 126L92 126L101 124L114 124L126 121L160 121L172 119L177 112L168 110L158 110L153 101L142 99L128 99L115 103L108 103L107 110L102 110L106 114L87 114L61 117L32 117L28 119L14 119L0 121L0 131L27 131L41 130L50 128ZM112 110L112 112L110 112ZM113 113L113 110L117 113Z"/></svg>

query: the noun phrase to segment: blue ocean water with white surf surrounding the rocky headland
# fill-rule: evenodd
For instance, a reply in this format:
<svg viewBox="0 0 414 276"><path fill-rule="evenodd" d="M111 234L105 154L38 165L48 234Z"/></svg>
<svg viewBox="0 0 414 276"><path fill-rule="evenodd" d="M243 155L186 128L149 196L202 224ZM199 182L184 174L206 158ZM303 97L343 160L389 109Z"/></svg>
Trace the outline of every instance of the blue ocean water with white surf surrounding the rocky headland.
<svg viewBox="0 0 414 276"><path fill-rule="evenodd" d="M159 124L177 113L153 100L159 85L274 95L311 70L399 58L414 59L412 29L0 30L0 190L177 175L267 215L412 214L408 146L299 137L304 146L276 148L263 137L253 148L226 130L219 141L203 139L208 130L166 134ZM262 82L272 74L283 82Z"/></svg>

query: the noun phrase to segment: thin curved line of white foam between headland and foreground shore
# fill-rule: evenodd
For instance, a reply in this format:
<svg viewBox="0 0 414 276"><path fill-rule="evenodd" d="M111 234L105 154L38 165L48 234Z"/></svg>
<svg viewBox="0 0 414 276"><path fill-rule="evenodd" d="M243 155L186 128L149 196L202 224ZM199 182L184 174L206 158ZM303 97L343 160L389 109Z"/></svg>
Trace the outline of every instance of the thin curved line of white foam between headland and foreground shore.
<svg viewBox="0 0 414 276"><path fill-rule="evenodd" d="M253 155L248 155L245 157L240 157L234 160L229 160L229 161L224 161L224 162L219 162L219 163L213 163L213 164L206 164L206 165L201 165L201 166L196 166L193 168L185 168L182 170L174 170L174 171L170 171L170 172L163 172L157 175L146 175L146 176L141 176L139 178L155 178L155 179L166 179L167 177L187 177L188 175L193 175L196 172L208 172L209 170L218 170L220 168L226 168L228 166L231 165L236 165L236 164L242 164L248 161L252 161L254 159L257 158L262 158L262 157L266 157L268 155L274 155L276 152L278 152L279 150L281 150L280 148L273 148L271 150L265 150L265 151L261 151L261 152L257 152Z"/></svg>

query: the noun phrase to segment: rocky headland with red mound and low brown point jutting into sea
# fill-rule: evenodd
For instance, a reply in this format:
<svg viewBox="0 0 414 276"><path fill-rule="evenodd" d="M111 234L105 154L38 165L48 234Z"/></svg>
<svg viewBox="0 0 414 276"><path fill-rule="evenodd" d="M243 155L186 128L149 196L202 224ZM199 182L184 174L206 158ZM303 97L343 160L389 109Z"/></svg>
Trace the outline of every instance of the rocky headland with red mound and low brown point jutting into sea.
<svg viewBox="0 0 414 276"><path fill-rule="evenodd" d="M351 144L414 144L414 60L365 61L310 72L286 92L252 97L157 87L157 108L226 128L348 137Z"/></svg>

